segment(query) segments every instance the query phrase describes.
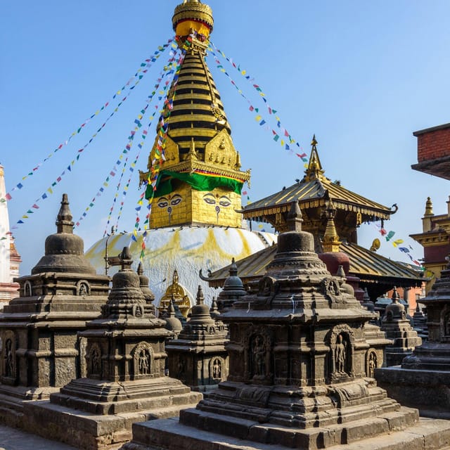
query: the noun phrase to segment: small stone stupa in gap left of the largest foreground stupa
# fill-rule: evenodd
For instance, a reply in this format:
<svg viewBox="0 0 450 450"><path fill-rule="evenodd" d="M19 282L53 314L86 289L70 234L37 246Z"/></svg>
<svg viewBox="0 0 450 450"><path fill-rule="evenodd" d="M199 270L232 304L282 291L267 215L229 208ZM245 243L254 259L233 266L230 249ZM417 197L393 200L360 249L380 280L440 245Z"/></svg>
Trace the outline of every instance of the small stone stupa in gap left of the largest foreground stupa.
<svg viewBox="0 0 450 450"><path fill-rule="evenodd" d="M227 329L219 316L211 317L199 286L191 319L178 338L166 345L169 375L200 392L217 387L228 375L226 335Z"/></svg>

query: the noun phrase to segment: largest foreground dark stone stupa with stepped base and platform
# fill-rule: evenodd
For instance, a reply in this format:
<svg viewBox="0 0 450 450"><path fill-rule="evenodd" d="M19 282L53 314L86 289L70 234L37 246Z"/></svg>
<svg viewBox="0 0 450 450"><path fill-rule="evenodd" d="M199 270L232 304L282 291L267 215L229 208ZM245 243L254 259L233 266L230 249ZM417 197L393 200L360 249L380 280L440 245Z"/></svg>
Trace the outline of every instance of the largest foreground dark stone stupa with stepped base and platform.
<svg viewBox="0 0 450 450"><path fill-rule="evenodd" d="M400 406L366 377L371 348L362 328L372 314L326 270L301 221L295 203L290 231L279 236L257 293L222 316L230 330L228 380L196 409L181 411L179 423L134 425L125 449L174 450L179 442L199 450L448 444L449 423L415 426L418 411Z"/></svg>

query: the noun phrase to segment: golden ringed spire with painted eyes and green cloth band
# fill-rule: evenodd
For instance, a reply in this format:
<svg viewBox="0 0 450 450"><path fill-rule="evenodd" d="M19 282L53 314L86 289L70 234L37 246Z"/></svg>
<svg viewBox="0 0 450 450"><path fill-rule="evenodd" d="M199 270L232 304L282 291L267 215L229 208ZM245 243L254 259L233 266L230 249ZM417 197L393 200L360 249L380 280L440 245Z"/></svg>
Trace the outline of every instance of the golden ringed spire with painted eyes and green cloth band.
<svg viewBox="0 0 450 450"><path fill-rule="evenodd" d="M240 227L240 191L250 171L240 171L214 79L205 62L214 20L210 6L186 0L172 18L176 41L186 52L178 79L172 82L163 117L167 125L165 162L155 191L150 228L184 224ZM160 131L159 129L157 131ZM158 136L148 158L152 169ZM148 173L141 172L141 181Z"/></svg>

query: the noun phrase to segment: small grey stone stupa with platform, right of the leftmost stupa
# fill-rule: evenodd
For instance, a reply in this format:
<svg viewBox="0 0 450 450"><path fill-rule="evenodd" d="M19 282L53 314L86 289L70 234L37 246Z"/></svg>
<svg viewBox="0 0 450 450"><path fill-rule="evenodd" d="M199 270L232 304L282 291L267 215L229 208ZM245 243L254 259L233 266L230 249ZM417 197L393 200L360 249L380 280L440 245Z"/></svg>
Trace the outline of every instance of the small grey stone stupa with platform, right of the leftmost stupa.
<svg viewBox="0 0 450 450"><path fill-rule="evenodd" d="M70 381L50 401L27 403L27 430L80 449L118 448L130 439L132 423L176 416L201 399L165 376L171 333L146 301L129 248L120 262L101 318L80 333L87 341L87 376Z"/></svg>

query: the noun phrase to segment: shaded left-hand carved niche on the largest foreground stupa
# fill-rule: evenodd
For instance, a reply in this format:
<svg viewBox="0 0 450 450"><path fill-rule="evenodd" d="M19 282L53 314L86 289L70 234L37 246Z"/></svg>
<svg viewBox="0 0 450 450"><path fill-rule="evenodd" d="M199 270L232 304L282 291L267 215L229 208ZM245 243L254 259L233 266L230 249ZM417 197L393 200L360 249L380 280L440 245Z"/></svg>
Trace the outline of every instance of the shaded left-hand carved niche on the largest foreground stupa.
<svg viewBox="0 0 450 450"><path fill-rule="evenodd" d="M250 383L271 385L274 382L272 367L273 336L263 327L251 327L245 335L244 378Z"/></svg>

